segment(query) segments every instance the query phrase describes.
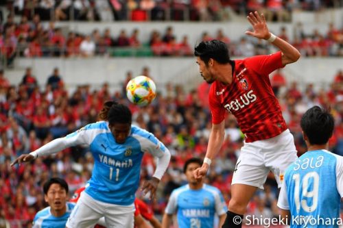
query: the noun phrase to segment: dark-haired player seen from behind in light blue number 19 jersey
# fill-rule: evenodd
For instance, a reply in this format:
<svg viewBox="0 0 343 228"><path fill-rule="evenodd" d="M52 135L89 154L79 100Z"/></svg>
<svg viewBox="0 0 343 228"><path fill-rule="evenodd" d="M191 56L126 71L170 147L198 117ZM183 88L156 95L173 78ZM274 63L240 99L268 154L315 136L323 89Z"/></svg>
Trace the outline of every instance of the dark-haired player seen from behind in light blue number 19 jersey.
<svg viewBox="0 0 343 228"><path fill-rule="evenodd" d="M327 151L334 121L311 107L300 121L307 152L290 165L278 206L291 227L338 227L343 197L343 157Z"/></svg>

